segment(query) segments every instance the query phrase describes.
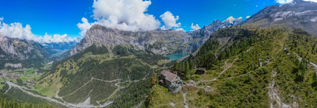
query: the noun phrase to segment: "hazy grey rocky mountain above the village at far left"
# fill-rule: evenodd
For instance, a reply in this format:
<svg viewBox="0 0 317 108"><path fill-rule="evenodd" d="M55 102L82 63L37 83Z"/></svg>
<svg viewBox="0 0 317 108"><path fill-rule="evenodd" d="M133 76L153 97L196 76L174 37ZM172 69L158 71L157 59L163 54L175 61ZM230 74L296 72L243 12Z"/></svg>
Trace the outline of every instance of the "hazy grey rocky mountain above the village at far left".
<svg viewBox="0 0 317 108"><path fill-rule="evenodd" d="M0 35L0 68L7 63L22 63L26 60L29 64L41 64L55 53L57 53L55 50L32 40L21 40ZM7 66L11 65L5 67ZM21 65L18 67L21 67Z"/></svg>

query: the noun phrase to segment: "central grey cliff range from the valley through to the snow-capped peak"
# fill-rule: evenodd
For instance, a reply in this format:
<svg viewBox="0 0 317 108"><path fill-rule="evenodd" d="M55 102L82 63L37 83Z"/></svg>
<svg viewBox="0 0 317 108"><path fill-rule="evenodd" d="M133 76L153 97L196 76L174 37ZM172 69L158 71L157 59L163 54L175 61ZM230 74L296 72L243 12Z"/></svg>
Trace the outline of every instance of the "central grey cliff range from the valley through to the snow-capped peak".
<svg viewBox="0 0 317 108"><path fill-rule="evenodd" d="M212 24L204 26L202 29L190 32L172 29L133 32L93 25L87 31L86 37L69 50L67 54L72 56L93 44L97 45L97 47L104 45L109 51L117 45L123 45L137 50L146 49L159 55L189 53L204 44L211 33L221 28L235 26L240 22L242 22L241 18L229 17L223 22L215 20Z"/></svg>

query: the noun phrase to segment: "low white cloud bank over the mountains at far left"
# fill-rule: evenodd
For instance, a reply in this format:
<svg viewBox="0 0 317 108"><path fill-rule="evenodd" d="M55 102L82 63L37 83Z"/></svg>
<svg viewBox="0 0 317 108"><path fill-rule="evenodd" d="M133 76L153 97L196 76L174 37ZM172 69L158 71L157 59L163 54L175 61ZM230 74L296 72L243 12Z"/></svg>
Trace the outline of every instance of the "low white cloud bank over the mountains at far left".
<svg viewBox="0 0 317 108"><path fill-rule="evenodd" d="M1 21L3 21L3 17L0 18L0 34L11 38L33 40L38 43L61 43L70 41L80 41L80 38L68 37L67 34L48 35L47 33L45 33L43 37L37 36L32 33L32 28L30 25L26 25L25 27L23 27L22 23L15 22L11 24L6 24Z"/></svg>

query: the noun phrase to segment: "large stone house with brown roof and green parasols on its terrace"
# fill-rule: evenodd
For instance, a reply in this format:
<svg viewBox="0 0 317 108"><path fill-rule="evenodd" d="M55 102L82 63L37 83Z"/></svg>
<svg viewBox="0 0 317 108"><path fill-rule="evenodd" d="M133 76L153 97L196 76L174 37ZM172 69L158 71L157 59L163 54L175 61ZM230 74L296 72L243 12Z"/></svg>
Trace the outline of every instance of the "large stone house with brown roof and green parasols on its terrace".
<svg viewBox="0 0 317 108"><path fill-rule="evenodd" d="M178 90L178 83L181 82L180 77L177 76L177 72L170 72L163 70L161 72L161 79L159 82L164 86L165 88L168 88L171 91Z"/></svg>

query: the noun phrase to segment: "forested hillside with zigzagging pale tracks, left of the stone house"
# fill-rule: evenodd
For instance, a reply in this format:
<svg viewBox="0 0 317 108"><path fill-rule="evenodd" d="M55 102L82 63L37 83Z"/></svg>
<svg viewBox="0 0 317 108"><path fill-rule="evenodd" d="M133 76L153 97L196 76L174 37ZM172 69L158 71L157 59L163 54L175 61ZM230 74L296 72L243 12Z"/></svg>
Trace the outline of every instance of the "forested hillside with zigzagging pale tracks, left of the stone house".
<svg viewBox="0 0 317 108"><path fill-rule="evenodd" d="M93 44L54 62L38 80L40 88L36 89L65 103L132 107L147 97L152 85L149 77L159 73L170 62L167 59L148 50L121 45L109 50Z"/></svg>

